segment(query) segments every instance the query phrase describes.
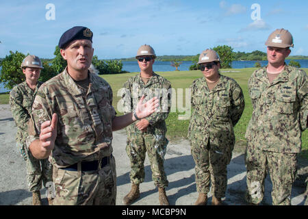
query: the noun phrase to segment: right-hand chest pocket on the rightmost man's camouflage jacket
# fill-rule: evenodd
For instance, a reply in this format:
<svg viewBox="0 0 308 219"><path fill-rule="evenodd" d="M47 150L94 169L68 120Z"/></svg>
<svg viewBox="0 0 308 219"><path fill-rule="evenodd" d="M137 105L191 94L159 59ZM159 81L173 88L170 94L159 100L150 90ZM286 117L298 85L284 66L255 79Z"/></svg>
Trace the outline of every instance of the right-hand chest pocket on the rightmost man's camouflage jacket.
<svg viewBox="0 0 308 219"><path fill-rule="evenodd" d="M275 92L275 112L281 114L293 114L294 112L294 103L296 101L295 92L286 92L285 90L279 90Z"/></svg>

